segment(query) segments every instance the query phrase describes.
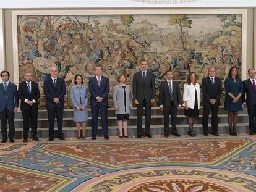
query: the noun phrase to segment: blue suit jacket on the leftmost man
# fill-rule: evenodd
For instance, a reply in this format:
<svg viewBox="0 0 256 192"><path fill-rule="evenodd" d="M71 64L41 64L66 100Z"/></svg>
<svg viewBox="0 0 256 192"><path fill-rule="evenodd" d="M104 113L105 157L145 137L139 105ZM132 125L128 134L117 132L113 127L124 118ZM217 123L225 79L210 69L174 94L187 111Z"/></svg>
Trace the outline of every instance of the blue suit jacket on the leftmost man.
<svg viewBox="0 0 256 192"><path fill-rule="evenodd" d="M14 107L19 106L19 98L17 86L9 81L7 91L4 91L4 84L0 83L0 112L4 112L7 109L14 111Z"/></svg>

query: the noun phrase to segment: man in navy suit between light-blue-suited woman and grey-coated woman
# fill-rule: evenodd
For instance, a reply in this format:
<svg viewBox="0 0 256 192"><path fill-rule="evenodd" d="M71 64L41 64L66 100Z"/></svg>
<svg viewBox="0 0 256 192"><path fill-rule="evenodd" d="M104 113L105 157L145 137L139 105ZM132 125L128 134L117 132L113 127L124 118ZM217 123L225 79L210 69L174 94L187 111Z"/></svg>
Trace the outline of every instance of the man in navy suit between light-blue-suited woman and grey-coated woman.
<svg viewBox="0 0 256 192"><path fill-rule="evenodd" d="M98 113L101 114L103 136L108 137L108 93L109 79L102 76L102 66L95 67L95 76L89 78L90 105L92 112L92 140L96 140L98 133Z"/></svg>

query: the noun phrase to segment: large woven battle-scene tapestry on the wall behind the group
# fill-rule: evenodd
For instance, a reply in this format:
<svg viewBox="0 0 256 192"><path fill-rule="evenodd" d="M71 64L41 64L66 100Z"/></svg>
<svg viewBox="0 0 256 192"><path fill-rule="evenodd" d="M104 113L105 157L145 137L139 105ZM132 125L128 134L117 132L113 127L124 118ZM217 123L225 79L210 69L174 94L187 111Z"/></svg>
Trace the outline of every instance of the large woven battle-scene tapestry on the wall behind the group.
<svg viewBox="0 0 256 192"><path fill-rule="evenodd" d="M214 65L224 79L232 65L241 72L241 14L221 15L45 15L19 16L19 74L33 70L35 81L51 66L67 85L77 73L85 80L95 65L116 81L132 80L147 59L156 81L173 69L176 80L189 72L201 79Z"/></svg>

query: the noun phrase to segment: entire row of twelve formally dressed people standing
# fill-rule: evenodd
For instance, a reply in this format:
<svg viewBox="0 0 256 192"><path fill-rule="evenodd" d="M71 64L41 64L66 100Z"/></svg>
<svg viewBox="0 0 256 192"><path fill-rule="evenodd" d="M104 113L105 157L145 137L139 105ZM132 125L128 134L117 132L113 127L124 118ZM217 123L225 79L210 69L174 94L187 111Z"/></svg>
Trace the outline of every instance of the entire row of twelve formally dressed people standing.
<svg viewBox="0 0 256 192"><path fill-rule="evenodd" d="M127 77L121 74L117 77L118 84L114 86L113 102L119 127L119 138L127 138L127 121L130 109L132 109L132 96L137 107L137 138L142 135L151 138L150 120L151 104L155 102L155 78L148 69L146 60L140 62L141 70L134 73L132 90L127 85ZM90 106L92 112L92 140L96 140L98 134L98 114L101 114L101 126L103 136L108 136L108 94L109 79L102 75L103 69L100 65L95 67L95 76L89 78L88 89L83 85L82 75L75 75L74 86L70 90L70 99L74 107L74 122L77 128L77 138L85 139L85 128L88 120L88 92L90 92ZM229 77L224 82L226 97L224 110L228 111L229 134L237 135L237 114L242 111L242 104L248 108L250 135L256 133L256 85L255 69L248 70L249 79L242 82L238 77L237 68L231 67ZM62 120L64 111L64 96L66 85L62 78L58 78L57 67L51 67L51 77L44 82L43 90L46 97L46 108L48 112L49 141L54 139L54 121L57 119L58 138L65 140L62 132ZM19 90L14 83L9 81L10 74L1 72L2 83L0 84L0 117L1 117L1 143L14 142L14 113L17 112L18 99L21 100L20 109L23 117L23 142L28 141L28 131L32 128L32 139L38 141L37 116L38 99L40 91L38 84L32 81L32 73L25 72L25 81L19 84ZM211 133L218 135L218 109L222 93L221 80L216 77L215 67L208 69L208 77L202 79L203 94L203 135L208 136L208 118L211 111ZM195 136L193 125L194 119L199 116L200 109L200 85L197 83L197 74L189 73L184 85L184 115L188 117L190 136ZM177 131L177 111L181 109L181 93L179 83L173 80L173 71L166 72L166 80L161 82L159 91L159 107L163 111L164 136L169 134L181 136ZM142 117L145 109L145 134L142 133ZM171 115L171 129L169 127L169 116ZM6 123L9 123L7 134ZM82 134L80 127L82 125Z"/></svg>

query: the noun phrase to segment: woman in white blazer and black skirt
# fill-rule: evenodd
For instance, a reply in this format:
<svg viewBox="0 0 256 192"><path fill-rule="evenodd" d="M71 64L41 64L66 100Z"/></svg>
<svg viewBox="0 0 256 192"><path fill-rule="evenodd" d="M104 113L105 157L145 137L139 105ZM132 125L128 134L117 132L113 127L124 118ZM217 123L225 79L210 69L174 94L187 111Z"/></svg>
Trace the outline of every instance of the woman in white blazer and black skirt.
<svg viewBox="0 0 256 192"><path fill-rule="evenodd" d="M197 83L197 75L192 72L187 77L187 82L184 85L183 101L185 106L184 115L189 117L189 132L190 136L195 136L193 131L194 117L199 116L200 108L200 85Z"/></svg>

